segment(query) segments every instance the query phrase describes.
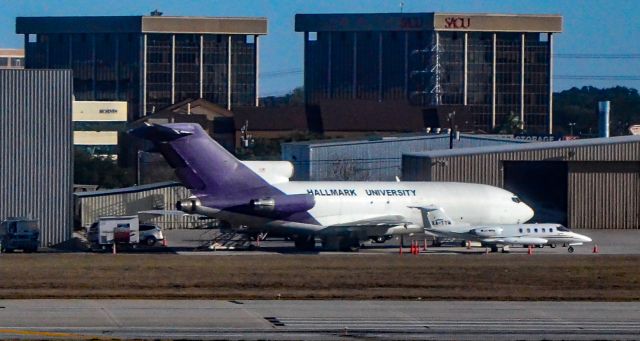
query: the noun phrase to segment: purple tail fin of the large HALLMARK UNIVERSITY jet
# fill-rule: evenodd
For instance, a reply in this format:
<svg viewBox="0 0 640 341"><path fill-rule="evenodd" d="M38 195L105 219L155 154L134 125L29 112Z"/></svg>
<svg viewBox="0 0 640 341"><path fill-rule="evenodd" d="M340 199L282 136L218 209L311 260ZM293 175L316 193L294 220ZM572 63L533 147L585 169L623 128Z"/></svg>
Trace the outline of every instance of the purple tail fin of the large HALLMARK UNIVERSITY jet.
<svg viewBox="0 0 640 341"><path fill-rule="evenodd" d="M180 181L198 197L233 200L282 194L209 137L199 124L147 123L130 133L152 141Z"/></svg>

